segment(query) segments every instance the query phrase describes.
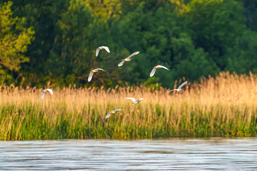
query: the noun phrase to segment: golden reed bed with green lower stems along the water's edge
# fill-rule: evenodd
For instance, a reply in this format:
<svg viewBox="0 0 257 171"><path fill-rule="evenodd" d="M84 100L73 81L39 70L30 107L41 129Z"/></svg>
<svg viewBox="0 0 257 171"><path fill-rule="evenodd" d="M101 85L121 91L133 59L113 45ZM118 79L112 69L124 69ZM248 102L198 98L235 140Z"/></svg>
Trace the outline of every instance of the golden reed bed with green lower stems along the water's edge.
<svg viewBox="0 0 257 171"><path fill-rule="evenodd" d="M256 83L257 75L223 72L182 92L69 87L44 100L42 89L11 85L0 93L0 139L256 137ZM126 97L144 99L135 105ZM124 110L105 119L114 109Z"/></svg>

